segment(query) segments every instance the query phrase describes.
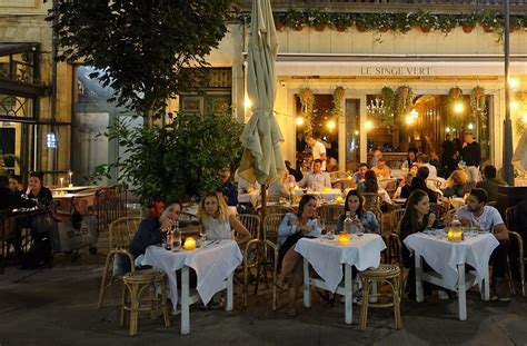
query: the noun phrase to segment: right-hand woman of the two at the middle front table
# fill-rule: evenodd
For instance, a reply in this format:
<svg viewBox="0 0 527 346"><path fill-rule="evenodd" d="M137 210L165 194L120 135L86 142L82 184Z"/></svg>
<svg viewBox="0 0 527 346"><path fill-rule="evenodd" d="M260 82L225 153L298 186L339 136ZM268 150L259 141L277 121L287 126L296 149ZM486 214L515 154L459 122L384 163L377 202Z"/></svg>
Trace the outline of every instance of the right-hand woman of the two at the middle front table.
<svg viewBox="0 0 527 346"><path fill-rule="evenodd" d="M350 211L351 219L357 223L364 229L365 233L379 234L379 223L377 217L371 211L366 211L364 208L364 197L357 190L349 190L346 196L346 204L344 205L344 214L339 217L337 224L337 234L344 229L344 220L346 219L346 212ZM355 218L357 216L357 218Z"/></svg>

